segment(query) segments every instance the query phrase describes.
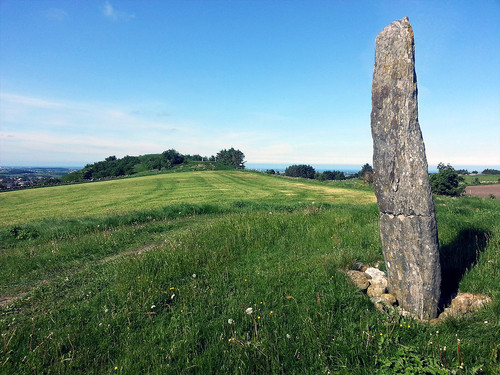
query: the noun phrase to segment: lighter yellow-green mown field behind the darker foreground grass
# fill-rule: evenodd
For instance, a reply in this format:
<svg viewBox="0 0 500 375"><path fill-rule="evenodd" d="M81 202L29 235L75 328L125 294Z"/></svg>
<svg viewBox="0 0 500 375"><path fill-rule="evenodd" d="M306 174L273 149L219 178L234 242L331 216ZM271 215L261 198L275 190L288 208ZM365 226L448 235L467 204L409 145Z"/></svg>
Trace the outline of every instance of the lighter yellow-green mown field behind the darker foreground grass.
<svg viewBox="0 0 500 375"><path fill-rule="evenodd" d="M2 193L0 226L52 218L123 215L181 203L375 201L363 190L342 187L234 170L156 174Z"/></svg>

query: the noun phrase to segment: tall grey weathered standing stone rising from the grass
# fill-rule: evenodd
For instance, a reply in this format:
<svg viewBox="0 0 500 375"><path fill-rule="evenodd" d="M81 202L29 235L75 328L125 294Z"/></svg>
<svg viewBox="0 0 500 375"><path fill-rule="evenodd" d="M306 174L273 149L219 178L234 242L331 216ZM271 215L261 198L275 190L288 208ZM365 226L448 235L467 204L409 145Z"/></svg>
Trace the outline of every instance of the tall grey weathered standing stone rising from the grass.
<svg viewBox="0 0 500 375"><path fill-rule="evenodd" d="M441 269L408 17L391 23L375 39L371 129L389 293L404 310L432 319Z"/></svg>

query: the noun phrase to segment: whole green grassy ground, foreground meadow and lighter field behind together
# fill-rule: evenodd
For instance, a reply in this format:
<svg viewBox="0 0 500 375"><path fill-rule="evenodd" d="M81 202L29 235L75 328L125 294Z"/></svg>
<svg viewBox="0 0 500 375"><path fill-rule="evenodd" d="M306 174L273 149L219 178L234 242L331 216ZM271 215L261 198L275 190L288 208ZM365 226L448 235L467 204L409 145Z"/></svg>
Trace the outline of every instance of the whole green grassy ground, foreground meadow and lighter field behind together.
<svg viewBox="0 0 500 375"><path fill-rule="evenodd" d="M452 286L493 302L431 326L346 279L383 263L361 183L204 171L0 194L0 372L495 374L500 204L435 202Z"/></svg>

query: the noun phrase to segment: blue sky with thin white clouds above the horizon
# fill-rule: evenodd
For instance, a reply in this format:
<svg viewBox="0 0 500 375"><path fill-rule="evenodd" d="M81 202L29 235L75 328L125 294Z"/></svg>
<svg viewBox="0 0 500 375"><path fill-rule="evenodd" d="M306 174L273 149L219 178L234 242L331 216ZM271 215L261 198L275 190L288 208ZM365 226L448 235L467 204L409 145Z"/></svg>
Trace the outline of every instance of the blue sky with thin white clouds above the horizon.
<svg viewBox="0 0 500 375"><path fill-rule="evenodd" d="M372 162L376 35L415 33L430 167L500 166L499 1L0 1L0 165L175 148Z"/></svg>

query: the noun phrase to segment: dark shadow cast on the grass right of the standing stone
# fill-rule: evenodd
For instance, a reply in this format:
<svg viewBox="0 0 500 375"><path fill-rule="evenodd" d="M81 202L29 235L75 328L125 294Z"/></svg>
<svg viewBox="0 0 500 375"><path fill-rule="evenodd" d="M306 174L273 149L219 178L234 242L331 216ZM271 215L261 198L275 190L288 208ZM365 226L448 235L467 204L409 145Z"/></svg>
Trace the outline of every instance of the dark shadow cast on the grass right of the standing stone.
<svg viewBox="0 0 500 375"><path fill-rule="evenodd" d="M439 311L451 303L458 293L458 284L467 270L479 260L488 245L490 233L486 230L462 229L455 240L439 249L441 263L441 298Z"/></svg>

